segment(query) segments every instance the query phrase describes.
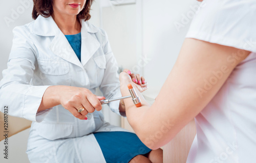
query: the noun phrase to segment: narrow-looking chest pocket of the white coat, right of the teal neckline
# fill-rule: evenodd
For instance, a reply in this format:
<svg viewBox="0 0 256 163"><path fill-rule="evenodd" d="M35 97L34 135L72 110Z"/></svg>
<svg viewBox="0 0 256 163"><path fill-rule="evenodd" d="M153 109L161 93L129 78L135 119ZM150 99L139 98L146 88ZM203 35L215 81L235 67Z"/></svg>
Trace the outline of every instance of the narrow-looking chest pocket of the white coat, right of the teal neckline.
<svg viewBox="0 0 256 163"><path fill-rule="evenodd" d="M101 55L93 58L93 60L96 63L97 83L100 85L106 68L106 58L105 55Z"/></svg>

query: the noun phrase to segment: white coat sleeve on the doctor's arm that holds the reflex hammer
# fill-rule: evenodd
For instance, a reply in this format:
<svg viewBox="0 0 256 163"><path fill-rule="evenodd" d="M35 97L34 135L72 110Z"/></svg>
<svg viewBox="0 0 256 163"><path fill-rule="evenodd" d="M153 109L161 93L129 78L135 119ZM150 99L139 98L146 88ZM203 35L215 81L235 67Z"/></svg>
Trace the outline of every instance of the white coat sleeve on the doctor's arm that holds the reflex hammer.
<svg viewBox="0 0 256 163"><path fill-rule="evenodd" d="M42 96L49 86L32 86L30 80L36 64L35 47L26 26L13 30L13 45L0 82L0 111L8 106L8 115L41 122L52 110L37 113Z"/></svg>

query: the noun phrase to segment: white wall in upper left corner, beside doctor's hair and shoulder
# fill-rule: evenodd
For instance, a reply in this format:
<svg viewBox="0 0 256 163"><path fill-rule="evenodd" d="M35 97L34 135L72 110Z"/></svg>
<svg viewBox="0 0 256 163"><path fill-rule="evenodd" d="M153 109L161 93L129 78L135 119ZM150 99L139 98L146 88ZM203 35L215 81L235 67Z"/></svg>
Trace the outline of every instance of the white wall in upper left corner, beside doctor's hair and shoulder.
<svg viewBox="0 0 256 163"><path fill-rule="evenodd" d="M15 26L32 21L32 0L2 1L0 5L0 79L7 68L7 61L12 46L12 30Z"/></svg>

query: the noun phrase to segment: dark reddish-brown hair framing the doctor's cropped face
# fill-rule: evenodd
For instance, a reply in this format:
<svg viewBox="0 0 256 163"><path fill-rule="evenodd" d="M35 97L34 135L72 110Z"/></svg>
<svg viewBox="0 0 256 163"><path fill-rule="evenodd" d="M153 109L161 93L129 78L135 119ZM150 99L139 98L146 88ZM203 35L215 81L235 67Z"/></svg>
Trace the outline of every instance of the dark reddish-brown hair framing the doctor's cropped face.
<svg viewBox="0 0 256 163"><path fill-rule="evenodd" d="M94 0L86 0L86 4L80 13L77 15L79 19L89 20L91 18L90 10ZM52 0L33 0L34 7L32 11L33 19L39 15L49 17L53 13Z"/></svg>

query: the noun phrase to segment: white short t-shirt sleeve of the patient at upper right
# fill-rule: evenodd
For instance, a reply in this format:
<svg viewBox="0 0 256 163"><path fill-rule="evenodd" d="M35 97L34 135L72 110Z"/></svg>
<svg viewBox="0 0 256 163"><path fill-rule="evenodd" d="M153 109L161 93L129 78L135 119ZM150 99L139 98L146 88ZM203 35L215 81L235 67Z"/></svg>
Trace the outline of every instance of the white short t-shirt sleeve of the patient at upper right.
<svg viewBox="0 0 256 163"><path fill-rule="evenodd" d="M186 38L256 52L256 1L204 0Z"/></svg>

